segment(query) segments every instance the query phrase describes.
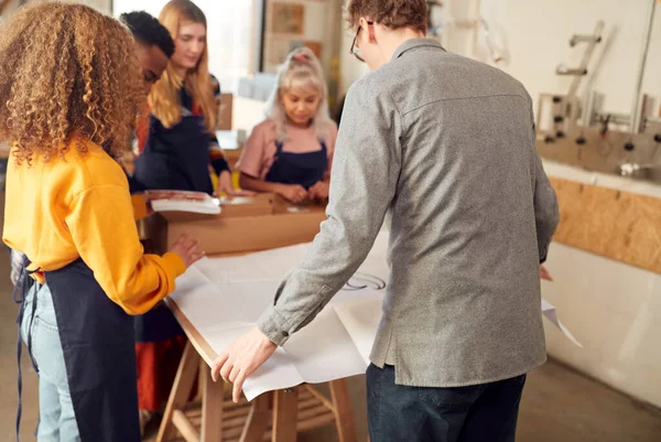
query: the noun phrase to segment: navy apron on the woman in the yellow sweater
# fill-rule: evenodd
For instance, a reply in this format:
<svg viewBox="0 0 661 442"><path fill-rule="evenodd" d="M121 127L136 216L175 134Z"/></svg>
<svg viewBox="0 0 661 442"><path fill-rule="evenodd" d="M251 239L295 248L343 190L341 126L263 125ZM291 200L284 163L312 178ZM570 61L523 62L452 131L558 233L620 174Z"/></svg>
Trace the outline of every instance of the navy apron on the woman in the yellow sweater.
<svg viewBox="0 0 661 442"><path fill-rule="evenodd" d="M45 272L83 442L140 442L133 319L78 259Z"/></svg>

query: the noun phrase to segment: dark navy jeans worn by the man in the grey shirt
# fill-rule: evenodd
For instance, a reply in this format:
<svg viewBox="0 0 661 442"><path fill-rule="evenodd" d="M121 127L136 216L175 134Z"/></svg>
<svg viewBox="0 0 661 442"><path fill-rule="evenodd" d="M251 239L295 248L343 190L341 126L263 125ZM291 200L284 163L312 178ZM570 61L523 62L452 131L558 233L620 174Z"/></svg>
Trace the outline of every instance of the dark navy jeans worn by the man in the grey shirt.
<svg viewBox="0 0 661 442"><path fill-rule="evenodd" d="M394 367L367 369L370 442L513 442L525 375L457 388L394 384Z"/></svg>

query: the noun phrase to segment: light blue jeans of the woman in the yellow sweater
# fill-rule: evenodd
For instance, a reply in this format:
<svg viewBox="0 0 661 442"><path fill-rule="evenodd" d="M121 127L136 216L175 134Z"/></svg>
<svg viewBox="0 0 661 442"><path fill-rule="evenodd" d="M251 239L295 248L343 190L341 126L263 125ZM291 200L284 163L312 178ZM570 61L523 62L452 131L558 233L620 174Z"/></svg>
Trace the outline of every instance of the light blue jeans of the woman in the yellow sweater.
<svg viewBox="0 0 661 442"><path fill-rule="evenodd" d="M37 292L39 290L39 292ZM35 297L36 295L36 297ZM36 298L34 315L33 305ZM39 369L39 442L79 442L78 425L69 395L64 353L57 332L55 309L47 285L34 284L25 302L21 335Z"/></svg>

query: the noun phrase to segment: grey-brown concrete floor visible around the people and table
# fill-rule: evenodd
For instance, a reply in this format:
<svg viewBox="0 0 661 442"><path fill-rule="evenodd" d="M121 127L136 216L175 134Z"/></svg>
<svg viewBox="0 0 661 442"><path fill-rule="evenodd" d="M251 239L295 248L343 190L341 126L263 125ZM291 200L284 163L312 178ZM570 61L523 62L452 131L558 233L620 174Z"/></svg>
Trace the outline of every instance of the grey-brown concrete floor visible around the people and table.
<svg viewBox="0 0 661 442"><path fill-rule="evenodd" d="M0 252L0 442L14 440L17 411L17 306L11 300L9 255ZM23 354L21 440L37 421L36 376ZM350 379L359 441L366 440L365 378ZM301 434L303 442L336 441L333 428ZM519 442L659 442L661 410L638 403L556 362L532 373L519 419ZM120 441L118 441L120 442Z"/></svg>

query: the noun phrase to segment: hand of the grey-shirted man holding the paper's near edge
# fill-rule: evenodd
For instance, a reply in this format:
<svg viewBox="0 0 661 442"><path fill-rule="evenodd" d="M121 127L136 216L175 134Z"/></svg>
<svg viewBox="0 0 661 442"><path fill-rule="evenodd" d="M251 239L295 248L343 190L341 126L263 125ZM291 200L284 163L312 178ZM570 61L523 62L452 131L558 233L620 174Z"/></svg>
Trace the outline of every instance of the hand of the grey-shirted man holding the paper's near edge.
<svg viewBox="0 0 661 442"><path fill-rule="evenodd" d="M278 346L258 327L252 327L220 352L214 360L212 378L217 381L220 375L226 382L234 384L232 400L238 402L246 378L269 360L275 348Z"/></svg>

